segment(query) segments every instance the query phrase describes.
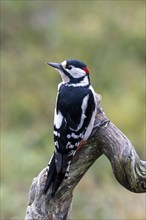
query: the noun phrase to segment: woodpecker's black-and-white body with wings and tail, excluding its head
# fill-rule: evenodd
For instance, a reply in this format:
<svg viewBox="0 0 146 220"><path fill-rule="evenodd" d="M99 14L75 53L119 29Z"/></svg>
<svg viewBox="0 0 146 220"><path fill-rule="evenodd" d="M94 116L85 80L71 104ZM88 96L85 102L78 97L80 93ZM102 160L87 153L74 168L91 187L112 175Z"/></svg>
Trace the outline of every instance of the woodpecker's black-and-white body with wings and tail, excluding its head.
<svg viewBox="0 0 146 220"><path fill-rule="evenodd" d="M84 140L84 136L87 136L85 138L87 139L92 131L91 119L95 114L95 100L90 87L62 84L59 89L54 118L56 150L50 161L49 179L46 184L46 190L52 184L52 195L55 194L64 177L68 176L72 157L81 140ZM86 132L89 134L85 135Z"/></svg>

